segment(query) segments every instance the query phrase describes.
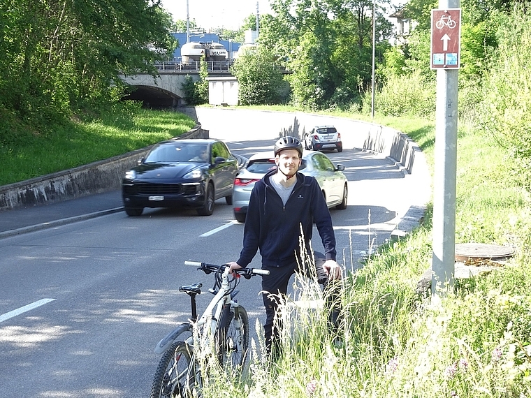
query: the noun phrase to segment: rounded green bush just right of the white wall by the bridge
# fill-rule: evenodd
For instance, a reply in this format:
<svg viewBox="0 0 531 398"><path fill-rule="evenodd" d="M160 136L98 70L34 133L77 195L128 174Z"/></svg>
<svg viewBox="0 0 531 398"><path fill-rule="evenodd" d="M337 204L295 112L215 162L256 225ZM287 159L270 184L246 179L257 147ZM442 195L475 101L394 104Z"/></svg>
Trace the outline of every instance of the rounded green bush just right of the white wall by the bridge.
<svg viewBox="0 0 531 398"><path fill-rule="evenodd" d="M283 98L283 76L275 56L259 47L238 57L233 65L241 105L278 104Z"/></svg>

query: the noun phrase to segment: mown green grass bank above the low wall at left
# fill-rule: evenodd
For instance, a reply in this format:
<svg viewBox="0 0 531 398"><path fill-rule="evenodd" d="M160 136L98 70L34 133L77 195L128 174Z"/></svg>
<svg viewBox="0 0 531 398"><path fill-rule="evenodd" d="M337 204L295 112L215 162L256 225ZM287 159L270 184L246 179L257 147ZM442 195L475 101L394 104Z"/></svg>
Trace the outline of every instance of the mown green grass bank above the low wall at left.
<svg viewBox="0 0 531 398"><path fill-rule="evenodd" d="M99 119L72 120L53 133L29 133L0 145L0 185L108 159L189 131L194 121L179 112L131 108Z"/></svg>

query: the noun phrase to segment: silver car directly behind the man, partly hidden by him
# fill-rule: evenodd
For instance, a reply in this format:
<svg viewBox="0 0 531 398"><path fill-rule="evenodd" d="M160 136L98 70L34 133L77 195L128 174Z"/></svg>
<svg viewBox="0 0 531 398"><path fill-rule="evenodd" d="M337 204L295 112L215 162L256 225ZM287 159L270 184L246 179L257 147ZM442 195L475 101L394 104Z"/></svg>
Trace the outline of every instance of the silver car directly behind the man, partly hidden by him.
<svg viewBox="0 0 531 398"><path fill-rule="evenodd" d="M234 180L233 186L233 209L234 218L240 223L245 222L247 206L254 184L259 181L266 172L276 170L275 154L273 152L261 152L249 158L247 165L242 169ZM321 186L323 196L326 199L328 208L347 208L347 197L349 189L347 177L343 174L344 166L337 167L328 159L328 156L321 152L304 151L303 161L299 171L304 175L311 175Z"/></svg>

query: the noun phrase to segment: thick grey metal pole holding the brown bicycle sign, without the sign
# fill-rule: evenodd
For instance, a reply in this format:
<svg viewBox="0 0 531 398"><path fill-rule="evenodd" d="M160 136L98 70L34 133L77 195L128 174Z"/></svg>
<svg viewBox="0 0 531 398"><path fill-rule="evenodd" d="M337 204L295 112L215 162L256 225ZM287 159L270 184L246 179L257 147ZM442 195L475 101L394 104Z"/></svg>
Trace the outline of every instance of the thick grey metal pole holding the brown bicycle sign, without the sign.
<svg viewBox="0 0 531 398"><path fill-rule="evenodd" d="M439 9L459 6L459 0L439 0ZM437 69L432 297L444 296L453 289L456 263L457 105L458 69Z"/></svg>

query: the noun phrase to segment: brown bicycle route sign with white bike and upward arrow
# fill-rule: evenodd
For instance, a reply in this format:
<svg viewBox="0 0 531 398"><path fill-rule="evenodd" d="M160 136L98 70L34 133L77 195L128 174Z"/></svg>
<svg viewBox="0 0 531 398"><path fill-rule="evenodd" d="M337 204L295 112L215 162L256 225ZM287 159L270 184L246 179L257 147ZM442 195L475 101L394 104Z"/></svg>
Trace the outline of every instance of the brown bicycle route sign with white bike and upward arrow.
<svg viewBox="0 0 531 398"><path fill-rule="evenodd" d="M458 69L461 9L432 10L431 68Z"/></svg>

